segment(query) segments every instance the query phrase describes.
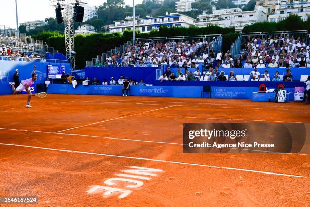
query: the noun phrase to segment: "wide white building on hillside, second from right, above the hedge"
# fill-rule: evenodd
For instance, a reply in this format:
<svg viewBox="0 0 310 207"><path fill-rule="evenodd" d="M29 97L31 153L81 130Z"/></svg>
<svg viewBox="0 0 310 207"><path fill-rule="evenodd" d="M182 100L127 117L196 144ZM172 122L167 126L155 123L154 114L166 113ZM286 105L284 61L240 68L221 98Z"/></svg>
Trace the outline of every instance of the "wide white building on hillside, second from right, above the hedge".
<svg viewBox="0 0 310 207"><path fill-rule="evenodd" d="M213 14L202 14L197 16L195 22L197 27L217 25L220 27L235 27L236 31L241 31L244 26L256 22L267 21L267 15L261 10L242 11L240 8L213 10Z"/></svg>

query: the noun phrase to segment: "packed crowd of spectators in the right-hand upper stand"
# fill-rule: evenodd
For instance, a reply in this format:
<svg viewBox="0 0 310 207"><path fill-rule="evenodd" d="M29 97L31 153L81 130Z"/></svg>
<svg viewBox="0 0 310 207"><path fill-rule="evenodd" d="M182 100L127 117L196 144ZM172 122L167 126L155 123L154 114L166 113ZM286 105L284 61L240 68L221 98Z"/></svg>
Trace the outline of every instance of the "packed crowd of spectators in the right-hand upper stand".
<svg viewBox="0 0 310 207"><path fill-rule="evenodd" d="M240 57L228 62L232 67L242 67L243 64L245 68L310 67L310 46L305 38L293 35L268 38L248 36L242 40L242 48Z"/></svg>

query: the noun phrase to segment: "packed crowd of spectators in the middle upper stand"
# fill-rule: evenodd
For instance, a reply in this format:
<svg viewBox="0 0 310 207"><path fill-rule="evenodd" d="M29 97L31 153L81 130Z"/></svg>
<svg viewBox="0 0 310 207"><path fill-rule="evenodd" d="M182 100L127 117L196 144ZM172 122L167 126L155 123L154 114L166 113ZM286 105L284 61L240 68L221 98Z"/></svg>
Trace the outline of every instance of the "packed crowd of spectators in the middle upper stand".
<svg viewBox="0 0 310 207"><path fill-rule="evenodd" d="M169 65L171 68L196 68L199 63L213 64L214 44L206 40L137 42L124 48L124 53L112 54L105 59L105 65ZM210 58L209 58L210 56ZM212 65L213 66L213 65Z"/></svg>

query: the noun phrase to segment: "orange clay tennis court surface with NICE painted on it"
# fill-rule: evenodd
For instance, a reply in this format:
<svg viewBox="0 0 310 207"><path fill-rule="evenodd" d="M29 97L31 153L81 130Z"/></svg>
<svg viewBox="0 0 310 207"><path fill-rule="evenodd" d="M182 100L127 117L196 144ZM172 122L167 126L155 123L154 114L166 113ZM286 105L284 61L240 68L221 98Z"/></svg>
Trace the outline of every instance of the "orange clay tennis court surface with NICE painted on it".
<svg viewBox="0 0 310 207"><path fill-rule="evenodd" d="M0 97L0 196L38 196L30 206L309 206L309 154L182 153L183 123L308 123L303 103L48 94L28 109L26 98Z"/></svg>

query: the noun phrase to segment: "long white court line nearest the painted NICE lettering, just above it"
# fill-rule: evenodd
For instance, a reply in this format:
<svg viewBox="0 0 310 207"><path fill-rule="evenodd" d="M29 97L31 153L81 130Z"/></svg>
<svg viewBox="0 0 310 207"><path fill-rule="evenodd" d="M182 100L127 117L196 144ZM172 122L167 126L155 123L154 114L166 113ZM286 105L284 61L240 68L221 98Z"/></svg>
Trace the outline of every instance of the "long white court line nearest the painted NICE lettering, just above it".
<svg viewBox="0 0 310 207"><path fill-rule="evenodd" d="M153 162L164 162L164 163L172 163L172 164L201 166L201 167L210 167L210 168L217 168L217 169L229 169L229 170L255 172L255 173L260 173L260 174L277 175L277 176L307 178L305 176L282 174L282 173L278 173L278 172L266 172L266 171L258 171L258 170L251 170L251 169L242 169L242 168L233 168L233 167L219 167L219 166L204 165L204 164L193 164L193 163L175 162L175 161L168 161L168 160L149 159L149 158L143 158L143 157L129 157L129 156L110 155L110 154L101 154L101 153L93 153L93 152L82 152L82 151L74 151L74 150L61 150L61 149L55 149L55 148L36 147L36 146L27 146L27 145L17 145L17 144L8 144L8 143L0 143L0 145L25 147L25 148L34 148L34 149L43 149L43 150L52 150L52 151L60 151L60 152L71 152L71 153L79 153L79 154L99 155L99 156L106 156L106 157L118 157L118 158L136 159L136 160L147 160L147 161L153 161Z"/></svg>

